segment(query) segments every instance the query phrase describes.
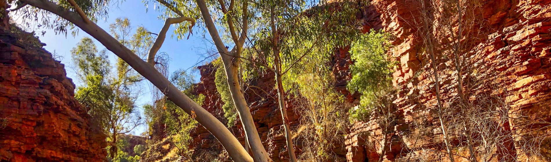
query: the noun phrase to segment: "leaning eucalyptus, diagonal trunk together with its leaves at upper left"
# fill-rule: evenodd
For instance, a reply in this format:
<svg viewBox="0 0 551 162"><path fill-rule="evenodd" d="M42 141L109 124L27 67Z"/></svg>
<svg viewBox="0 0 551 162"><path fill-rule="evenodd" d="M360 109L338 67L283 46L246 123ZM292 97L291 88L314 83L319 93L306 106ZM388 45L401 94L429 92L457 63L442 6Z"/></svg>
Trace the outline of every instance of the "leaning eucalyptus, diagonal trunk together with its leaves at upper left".
<svg viewBox="0 0 551 162"><path fill-rule="evenodd" d="M178 90L178 88L172 85L172 83L166 79L163 74L157 71L154 66L145 62L131 49L119 42L115 37L107 33L95 23L98 19L102 19L107 16L107 9L111 3L110 0L83 0L78 2L75 2L74 0L21 0L20 2L22 6L30 6L17 7L20 9L15 11L21 12L22 17L26 18L24 19L23 25L30 25L38 21L45 27L55 29L57 33L67 33L68 29L73 29L73 27L78 27L80 30L87 32L90 36L94 37L97 41L103 44L109 51L116 54L139 74L145 77L145 79L152 82L154 86L159 88L159 90L163 91L165 96L167 96L174 104L182 108L187 114L196 116L195 120L209 130L218 139L218 141L222 143L222 146L224 146L224 148L228 151L228 154L233 160L253 161L252 157L241 146L241 143L237 141L237 138L233 136L225 125L222 124L222 122L183 94L182 91ZM177 10L186 8L187 6L183 5L184 3L168 3L163 0L158 0L158 2L166 7L167 12L174 12L168 13L168 15L177 15L179 17L185 17L184 19L190 20L191 22L194 21L190 18L190 16L183 16L182 11ZM13 3L13 1L9 1L9 3ZM179 8L176 8L173 4L176 4ZM190 8L194 7L190 6ZM188 9L186 11L186 13L190 15L193 15L192 13L194 13L193 9ZM55 15L55 20L50 19L51 14ZM37 19L39 18L38 15L42 15L42 20ZM171 22L172 21L169 21L168 23ZM212 21L210 22L212 24ZM78 30L73 30L73 34L77 32ZM160 40L155 41L153 47L159 46L161 43L162 41ZM155 51L154 48L152 48L152 50ZM251 116L250 113L248 115ZM250 118L250 121L252 121L252 117ZM258 133L256 133L256 136L258 137ZM256 144L256 146L262 146L260 138L257 139L258 140L256 142L258 144ZM260 161L267 161L268 158L266 151L264 148L261 148L261 150L263 150L263 152L259 155L255 155L255 158L265 159Z"/></svg>

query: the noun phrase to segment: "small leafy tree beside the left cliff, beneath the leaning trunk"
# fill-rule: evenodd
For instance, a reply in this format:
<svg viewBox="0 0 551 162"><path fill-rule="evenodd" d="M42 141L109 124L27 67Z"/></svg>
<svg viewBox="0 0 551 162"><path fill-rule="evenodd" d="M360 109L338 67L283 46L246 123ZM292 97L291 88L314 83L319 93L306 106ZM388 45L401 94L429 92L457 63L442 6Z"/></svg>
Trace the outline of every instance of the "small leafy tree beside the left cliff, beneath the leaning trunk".
<svg viewBox="0 0 551 162"><path fill-rule="evenodd" d="M88 108L93 121L109 137L110 157L117 154L119 135L131 132L141 125L137 114L136 83L141 77L130 72L126 63L117 62L115 70L105 51L98 51L94 42L84 37L71 51L84 85L77 88L75 98ZM115 72L115 75L112 75Z"/></svg>

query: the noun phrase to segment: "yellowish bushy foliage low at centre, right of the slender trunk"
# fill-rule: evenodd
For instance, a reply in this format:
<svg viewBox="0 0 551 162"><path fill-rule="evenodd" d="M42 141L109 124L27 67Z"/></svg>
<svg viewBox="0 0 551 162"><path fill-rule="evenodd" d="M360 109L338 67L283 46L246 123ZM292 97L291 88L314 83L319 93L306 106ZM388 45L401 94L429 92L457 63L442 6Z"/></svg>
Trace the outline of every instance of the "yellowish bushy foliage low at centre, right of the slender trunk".
<svg viewBox="0 0 551 162"><path fill-rule="evenodd" d="M337 155L331 149L344 143L348 127L344 97L334 90L334 76L327 68L307 68L296 76L294 89L300 98L294 104L302 115L298 133L304 139L300 159L333 161Z"/></svg>

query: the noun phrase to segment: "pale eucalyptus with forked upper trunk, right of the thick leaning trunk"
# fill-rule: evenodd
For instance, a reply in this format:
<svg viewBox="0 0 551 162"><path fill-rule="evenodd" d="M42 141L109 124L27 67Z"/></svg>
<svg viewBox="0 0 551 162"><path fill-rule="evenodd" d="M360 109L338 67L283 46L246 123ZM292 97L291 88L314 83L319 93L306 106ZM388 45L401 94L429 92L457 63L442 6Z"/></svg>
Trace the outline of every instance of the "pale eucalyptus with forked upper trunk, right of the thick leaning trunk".
<svg viewBox="0 0 551 162"><path fill-rule="evenodd" d="M249 27L249 20L252 19L249 16L249 2L237 0L198 0L196 2L162 1L160 3L167 6L164 15L171 15L170 11L174 13L178 13L175 11L180 11L183 15L192 18L202 16L202 21L198 19L196 20L197 25L206 27L215 48L220 54L220 58L222 58L231 98L233 99L235 108L237 109L237 114L241 119L246 140L252 149L254 155L253 157L255 158L255 161L272 161L268 157L268 153L262 145L260 136L258 136L258 131L256 130L256 126L252 119L249 105L245 100L242 87L240 86L240 78L238 74L240 67L239 58L241 58L242 48L245 45L245 40L249 32L249 30L247 30ZM211 12L215 15L214 19ZM197 13L201 13L201 15L197 15ZM220 36L219 29L221 29L220 31L223 31L223 36ZM188 29L184 26L178 26L176 33L187 30ZM225 41L223 41L223 37ZM230 50L229 47L233 48ZM226 148L226 150L228 150L228 148ZM240 150L245 151L242 147Z"/></svg>

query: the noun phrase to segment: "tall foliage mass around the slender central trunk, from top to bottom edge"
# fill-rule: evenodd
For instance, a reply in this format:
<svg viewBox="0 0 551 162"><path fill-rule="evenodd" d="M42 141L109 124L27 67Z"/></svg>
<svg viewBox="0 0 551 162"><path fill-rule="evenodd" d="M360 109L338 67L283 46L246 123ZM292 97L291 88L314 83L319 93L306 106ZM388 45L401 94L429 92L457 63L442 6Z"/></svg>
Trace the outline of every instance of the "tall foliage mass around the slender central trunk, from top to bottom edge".
<svg viewBox="0 0 551 162"><path fill-rule="evenodd" d="M307 1L255 1L247 60L266 66L276 73L279 102L285 92L293 92L300 102L301 127L304 137L301 159L332 161L333 144L346 127L343 98L332 89L334 77L328 63L336 48L347 46L360 36L354 18L358 3L342 1L326 4ZM338 8L338 9L336 9ZM245 61L246 62L246 61ZM246 70L257 71L255 66ZM247 72L244 72L247 74ZM244 75L248 76L248 75ZM280 76L280 77L279 77ZM279 83L283 83L279 85ZM280 104L284 105L284 104ZM284 110L284 107L281 108ZM336 114L336 115L328 115ZM283 116L287 118L287 116ZM285 129L290 130L287 126ZM292 140L289 133L287 140ZM290 155L292 156L292 154Z"/></svg>

